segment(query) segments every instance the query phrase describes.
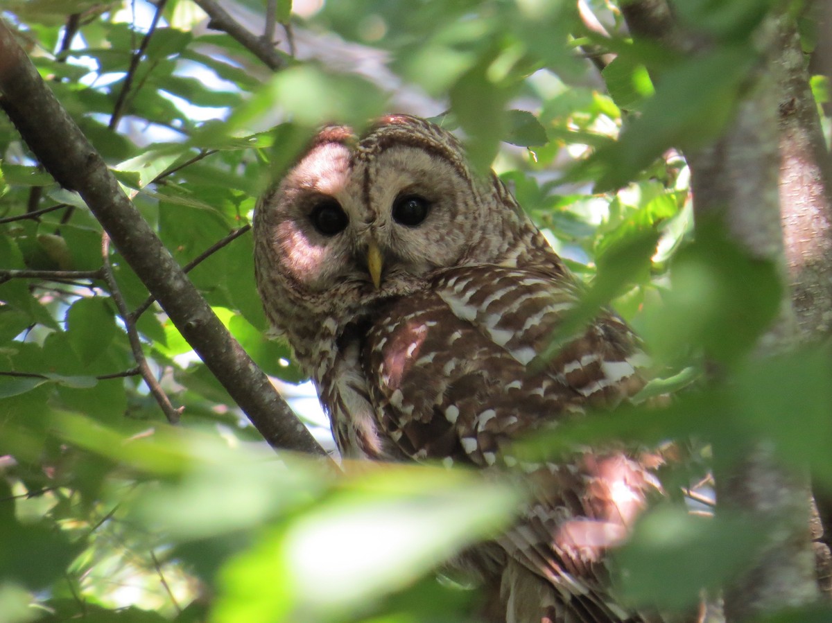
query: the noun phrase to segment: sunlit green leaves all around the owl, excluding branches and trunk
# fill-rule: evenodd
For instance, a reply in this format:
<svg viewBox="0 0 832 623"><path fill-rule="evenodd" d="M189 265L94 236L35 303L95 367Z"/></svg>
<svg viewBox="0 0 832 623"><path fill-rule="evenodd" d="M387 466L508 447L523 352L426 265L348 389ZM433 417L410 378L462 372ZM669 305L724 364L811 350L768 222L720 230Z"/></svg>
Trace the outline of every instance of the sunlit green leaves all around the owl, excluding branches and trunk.
<svg viewBox="0 0 832 623"><path fill-rule="evenodd" d="M612 305L655 358L648 393L679 393L523 447L542 457L609 438L696 439L666 474L668 500L617 558L631 600L688 606L765 540L766 526L684 510L676 492L706 477L712 441L730 448L763 433L832 483L829 352L749 357L777 313L779 274L719 231L692 240L677 151L730 122L771 2L680 2L715 39L700 57L634 45L616 3L602 0L586 4L607 36L574 2L295 2L291 14L291 2L275 2L276 72L206 27L195 2L158 4L0 8L266 373L301 380L289 349L268 339L255 291L256 196L316 126L414 112L458 129L475 165L493 166L586 281L574 321ZM266 2L221 4L260 36ZM587 60L596 47L614 57L600 72ZM646 66L665 80L654 86ZM80 197L42 171L2 115L0 173L0 271L28 271L0 277L0 620L470 620L473 592L433 571L510 522L513 487L439 468L344 477L265 448L117 250L102 257L101 226ZM180 426L142 380L127 324L184 407ZM735 382L701 389L704 352Z"/></svg>

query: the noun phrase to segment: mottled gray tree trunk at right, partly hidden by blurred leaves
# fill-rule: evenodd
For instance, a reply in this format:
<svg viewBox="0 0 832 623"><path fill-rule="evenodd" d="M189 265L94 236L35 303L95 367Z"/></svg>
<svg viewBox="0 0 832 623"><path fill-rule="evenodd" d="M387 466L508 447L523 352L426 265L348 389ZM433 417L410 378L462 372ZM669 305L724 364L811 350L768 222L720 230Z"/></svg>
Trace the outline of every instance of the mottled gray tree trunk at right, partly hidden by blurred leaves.
<svg viewBox="0 0 832 623"><path fill-rule="evenodd" d="M701 33L681 29L672 5L664 0L632 2L622 10L634 37L658 39L688 53L708 48ZM755 33L760 62L748 77L734 121L711 146L686 153L697 225L721 221L750 255L780 266L784 283L791 286L779 319L760 339L760 357L798 343L799 324L812 334L825 330L825 315L832 309L821 303L830 294L828 282L817 278L824 262L830 269L823 255L829 245L828 227L815 230L815 223L828 223L825 172L820 166L808 171L803 166L802 159L810 155L819 163L820 151L809 111L799 114L802 104L814 106L811 94L805 98L805 74L786 68L803 60L799 48L795 51L793 33L779 18L763 22ZM661 76L655 78L661 87ZM806 255L818 258L818 264L801 268L807 265ZM715 442L715 452L720 451ZM781 467L765 439L749 439L745 448L731 452L733 467L716 474L717 512L742 512L777 528L763 544L764 554L755 566L726 586L727 621L814 601L818 591L807 479Z"/></svg>

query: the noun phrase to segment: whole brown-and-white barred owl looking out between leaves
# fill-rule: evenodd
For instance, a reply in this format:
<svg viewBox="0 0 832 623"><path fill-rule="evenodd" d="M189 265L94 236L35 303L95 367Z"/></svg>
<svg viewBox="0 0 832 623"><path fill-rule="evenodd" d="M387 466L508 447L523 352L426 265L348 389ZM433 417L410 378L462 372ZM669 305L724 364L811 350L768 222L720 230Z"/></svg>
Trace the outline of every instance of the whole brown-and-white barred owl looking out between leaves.
<svg viewBox="0 0 832 623"><path fill-rule="evenodd" d="M344 457L517 472L518 523L452 564L493 588L499 621L641 621L604 553L656 487L623 452L518 464L510 443L643 385L635 336L602 314L537 355L577 301L562 260L493 174L413 116L319 132L260 198L257 283L310 374Z"/></svg>

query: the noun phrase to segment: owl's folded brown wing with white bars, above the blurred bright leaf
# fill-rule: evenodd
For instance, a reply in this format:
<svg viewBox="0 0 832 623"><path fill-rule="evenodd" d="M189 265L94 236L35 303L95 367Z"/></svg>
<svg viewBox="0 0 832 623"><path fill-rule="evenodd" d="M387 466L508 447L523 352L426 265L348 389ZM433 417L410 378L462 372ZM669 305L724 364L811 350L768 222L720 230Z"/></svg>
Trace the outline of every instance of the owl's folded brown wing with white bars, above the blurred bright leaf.
<svg viewBox="0 0 832 623"><path fill-rule="evenodd" d="M500 451L520 432L636 393L645 358L612 314L529 365L577 296L557 272L479 265L444 270L429 292L392 304L364 345L384 433L411 457L486 467L511 462Z"/></svg>

